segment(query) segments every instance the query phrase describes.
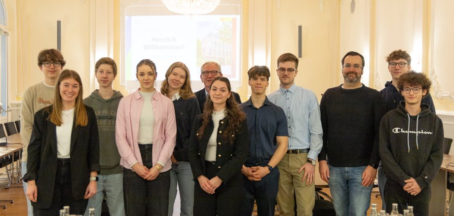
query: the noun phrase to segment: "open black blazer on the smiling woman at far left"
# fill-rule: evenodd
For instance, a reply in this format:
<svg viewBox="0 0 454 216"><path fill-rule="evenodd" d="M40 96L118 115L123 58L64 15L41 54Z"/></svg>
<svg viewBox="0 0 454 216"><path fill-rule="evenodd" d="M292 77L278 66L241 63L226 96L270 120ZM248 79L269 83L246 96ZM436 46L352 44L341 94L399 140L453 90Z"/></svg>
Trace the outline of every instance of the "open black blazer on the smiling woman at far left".
<svg viewBox="0 0 454 216"><path fill-rule="evenodd" d="M56 126L48 117L53 106L40 109L35 114L32 137L28 146L27 174L24 180L36 180L38 202L32 203L39 209L47 209L52 203L57 173ZM85 106L88 124L76 127L76 116L71 132L71 184L74 199L83 199L88 186L90 172L99 172L98 125L93 108Z"/></svg>

